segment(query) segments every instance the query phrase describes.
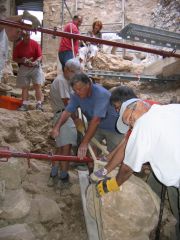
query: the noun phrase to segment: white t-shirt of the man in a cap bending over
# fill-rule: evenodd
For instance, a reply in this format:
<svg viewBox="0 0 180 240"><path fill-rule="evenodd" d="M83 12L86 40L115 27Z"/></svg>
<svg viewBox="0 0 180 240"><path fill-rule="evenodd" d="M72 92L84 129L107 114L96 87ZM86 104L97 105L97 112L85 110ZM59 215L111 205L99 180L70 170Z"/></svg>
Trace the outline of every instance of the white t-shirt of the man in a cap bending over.
<svg viewBox="0 0 180 240"><path fill-rule="evenodd" d="M139 172L146 162L160 182L180 187L180 104L153 105L135 123L124 163Z"/></svg>

